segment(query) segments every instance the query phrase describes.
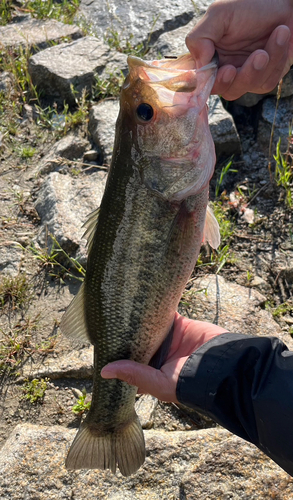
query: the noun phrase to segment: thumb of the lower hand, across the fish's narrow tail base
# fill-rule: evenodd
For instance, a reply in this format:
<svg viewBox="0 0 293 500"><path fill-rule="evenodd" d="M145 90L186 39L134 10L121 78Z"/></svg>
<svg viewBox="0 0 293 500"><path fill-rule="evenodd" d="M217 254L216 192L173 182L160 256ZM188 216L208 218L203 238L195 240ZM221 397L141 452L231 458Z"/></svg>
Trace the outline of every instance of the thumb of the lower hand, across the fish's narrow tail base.
<svg viewBox="0 0 293 500"><path fill-rule="evenodd" d="M136 361L114 361L104 366L101 376L105 379L118 378L139 388L143 394L152 394L163 401L177 401L176 382L160 370Z"/></svg>

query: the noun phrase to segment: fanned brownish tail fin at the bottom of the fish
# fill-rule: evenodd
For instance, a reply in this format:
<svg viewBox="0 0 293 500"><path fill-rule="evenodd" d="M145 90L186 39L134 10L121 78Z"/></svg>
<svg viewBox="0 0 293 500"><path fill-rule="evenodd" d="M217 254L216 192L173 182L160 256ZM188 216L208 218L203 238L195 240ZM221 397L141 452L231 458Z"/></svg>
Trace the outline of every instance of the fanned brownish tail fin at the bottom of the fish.
<svg viewBox="0 0 293 500"><path fill-rule="evenodd" d="M68 452L67 469L111 469L123 476L134 474L145 460L145 441L138 416L113 432L99 432L94 424L82 424Z"/></svg>

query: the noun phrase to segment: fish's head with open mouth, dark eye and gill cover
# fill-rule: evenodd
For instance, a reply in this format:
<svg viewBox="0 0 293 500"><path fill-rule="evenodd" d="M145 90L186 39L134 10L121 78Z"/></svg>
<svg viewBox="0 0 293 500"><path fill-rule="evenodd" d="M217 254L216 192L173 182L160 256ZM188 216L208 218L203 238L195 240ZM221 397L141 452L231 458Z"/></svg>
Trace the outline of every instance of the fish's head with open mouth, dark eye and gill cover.
<svg viewBox="0 0 293 500"><path fill-rule="evenodd" d="M190 54L143 61L128 57L120 124L131 140L132 161L145 186L169 201L197 194L214 170L207 99L217 63L195 69Z"/></svg>

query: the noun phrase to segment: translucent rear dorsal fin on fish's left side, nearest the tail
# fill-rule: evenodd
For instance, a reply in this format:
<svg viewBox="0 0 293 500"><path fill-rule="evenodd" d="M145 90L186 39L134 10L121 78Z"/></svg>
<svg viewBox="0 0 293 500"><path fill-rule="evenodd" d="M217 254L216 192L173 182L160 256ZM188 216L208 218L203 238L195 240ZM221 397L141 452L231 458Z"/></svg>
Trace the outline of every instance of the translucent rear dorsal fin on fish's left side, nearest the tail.
<svg viewBox="0 0 293 500"><path fill-rule="evenodd" d="M84 283L63 315L60 330L66 337L79 342L90 342L84 315Z"/></svg>

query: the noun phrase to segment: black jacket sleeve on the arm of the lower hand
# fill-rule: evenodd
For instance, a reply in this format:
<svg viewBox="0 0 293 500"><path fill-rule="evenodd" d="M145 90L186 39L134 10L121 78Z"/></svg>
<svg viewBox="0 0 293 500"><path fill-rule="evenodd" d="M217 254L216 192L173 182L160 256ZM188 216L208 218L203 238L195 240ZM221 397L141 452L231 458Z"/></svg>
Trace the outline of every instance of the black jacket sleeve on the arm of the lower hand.
<svg viewBox="0 0 293 500"><path fill-rule="evenodd" d="M293 476L293 352L279 339L214 337L184 364L177 399L255 444Z"/></svg>

